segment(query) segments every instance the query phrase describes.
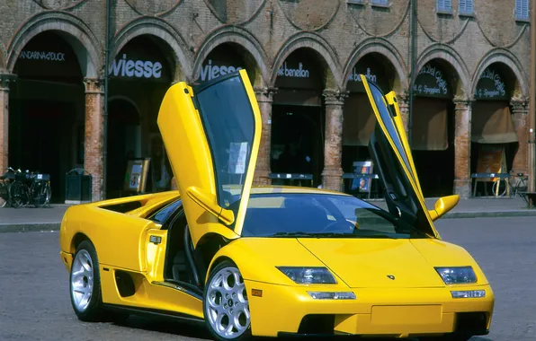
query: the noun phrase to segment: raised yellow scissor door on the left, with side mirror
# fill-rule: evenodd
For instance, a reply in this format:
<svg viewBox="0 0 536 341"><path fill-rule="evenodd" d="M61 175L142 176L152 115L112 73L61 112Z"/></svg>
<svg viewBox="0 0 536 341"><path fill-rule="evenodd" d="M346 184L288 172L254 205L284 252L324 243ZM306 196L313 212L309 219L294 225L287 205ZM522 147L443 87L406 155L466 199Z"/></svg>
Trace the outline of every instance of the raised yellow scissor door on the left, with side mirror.
<svg viewBox="0 0 536 341"><path fill-rule="evenodd" d="M261 140L261 115L245 70L165 93L158 127L195 247L242 231Z"/></svg>

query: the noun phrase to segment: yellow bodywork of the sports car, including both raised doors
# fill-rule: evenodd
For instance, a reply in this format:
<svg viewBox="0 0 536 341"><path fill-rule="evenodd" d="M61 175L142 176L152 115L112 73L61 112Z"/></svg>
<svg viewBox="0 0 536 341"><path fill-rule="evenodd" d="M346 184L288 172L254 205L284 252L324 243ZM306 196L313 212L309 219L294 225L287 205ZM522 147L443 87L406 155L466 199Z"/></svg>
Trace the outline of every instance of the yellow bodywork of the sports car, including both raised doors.
<svg viewBox="0 0 536 341"><path fill-rule="evenodd" d="M218 154L219 149L227 146L214 145L218 136L211 135L210 119L207 120L203 111L210 96L205 100L199 98L199 92L210 90L212 85L192 88L186 83L174 84L165 94L157 123L179 190L69 207L59 234L60 257L68 271L76 245L81 240L90 240L100 263L103 303L203 319L201 290L165 277L166 260L171 261L167 249L172 238L169 226L150 220L159 209L180 203L187 219L186 231L196 252L204 250L205 241L214 236L221 243L210 253L199 284L201 287L207 284L210 271L222 261L234 263L246 284L254 336L299 333L306 321L318 314L332 316L333 331L342 334L441 335L457 328L458 314L475 311L485 315L484 328L489 329L495 296L487 277L465 249L441 240L433 226L433 220L450 210L458 197L442 198L433 210L426 208L396 95L389 92L379 98L375 85L368 83L364 76L362 82L378 121L371 145L380 162L386 157L391 162L389 170L385 169L386 164L378 168L385 172L387 187L397 177L403 179L401 185L386 189L389 212L393 216L398 214L396 218L400 220L415 219L415 226L421 229L418 231L428 237L247 236L247 229L243 229L246 208L279 209L284 207L281 197L286 195L354 198L317 188L252 187L262 128L260 112L246 72L242 70L232 77L236 77L240 92L245 92L239 101L247 102L249 113L244 115L250 126L246 130L251 129L251 136L233 141L244 140L247 146L239 181L227 183L221 178L221 172L226 176L230 172L222 170L223 159ZM392 110L390 116L386 115L388 107ZM393 175L391 166L400 173ZM333 215L328 214L328 218L335 220ZM367 229L363 223L361 226L350 220L344 223L355 224L361 232ZM297 284L278 267L325 267L336 283ZM472 267L477 281L445 284L434 267ZM124 276L132 280L132 293L121 289ZM455 299L451 295L451 291L474 290L485 291L485 297ZM309 292L354 293L356 297L317 300Z"/></svg>

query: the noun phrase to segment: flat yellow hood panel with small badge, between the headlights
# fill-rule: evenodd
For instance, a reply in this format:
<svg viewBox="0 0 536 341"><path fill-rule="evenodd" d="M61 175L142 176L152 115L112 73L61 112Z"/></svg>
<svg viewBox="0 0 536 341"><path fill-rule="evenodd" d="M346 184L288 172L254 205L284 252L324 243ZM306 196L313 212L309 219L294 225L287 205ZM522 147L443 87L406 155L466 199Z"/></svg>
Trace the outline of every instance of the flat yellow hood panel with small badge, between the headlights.
<svg viewBox="0 0 536 341"><path fill-rule="evenodd" d="M411 240L302 238L299 242L353 288L444 286Z"/></svg>

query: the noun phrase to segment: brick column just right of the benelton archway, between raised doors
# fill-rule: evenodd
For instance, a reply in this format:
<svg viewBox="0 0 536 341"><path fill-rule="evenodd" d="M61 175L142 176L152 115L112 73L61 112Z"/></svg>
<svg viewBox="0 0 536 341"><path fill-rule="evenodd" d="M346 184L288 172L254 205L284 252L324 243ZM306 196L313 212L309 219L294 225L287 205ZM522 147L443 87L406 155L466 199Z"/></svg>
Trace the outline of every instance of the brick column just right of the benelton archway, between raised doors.
<svg viewBox="0 0 536 341"><path fill-rule="evenodd" d="M343 189L343 92L326 90L326 140L324 142L324 170L322 188L341 191Z"/></svg>

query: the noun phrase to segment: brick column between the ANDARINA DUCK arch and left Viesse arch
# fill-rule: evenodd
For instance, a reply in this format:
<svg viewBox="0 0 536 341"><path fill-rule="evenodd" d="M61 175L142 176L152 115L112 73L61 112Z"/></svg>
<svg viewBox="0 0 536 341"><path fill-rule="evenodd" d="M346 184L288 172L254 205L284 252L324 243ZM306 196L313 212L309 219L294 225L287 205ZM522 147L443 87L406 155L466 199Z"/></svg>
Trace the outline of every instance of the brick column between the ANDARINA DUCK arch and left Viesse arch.
<svg viewBox="0 0 536 341"><path fill-rule="evenodd" d="M104 197L104 87L103 80L85 78L84 168L93 176L92 199Z"/></svg>

